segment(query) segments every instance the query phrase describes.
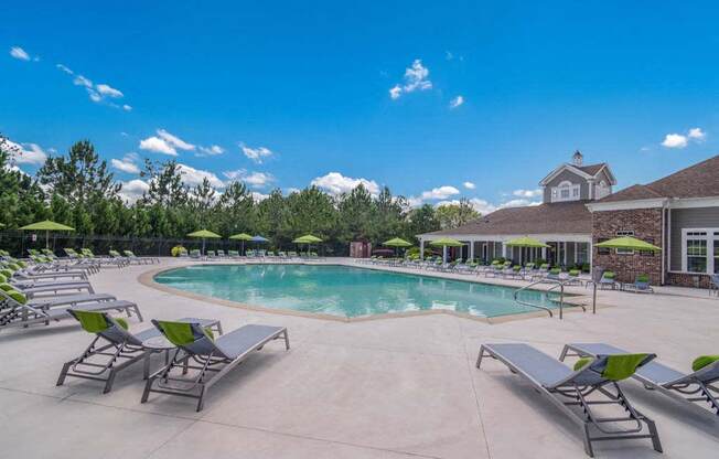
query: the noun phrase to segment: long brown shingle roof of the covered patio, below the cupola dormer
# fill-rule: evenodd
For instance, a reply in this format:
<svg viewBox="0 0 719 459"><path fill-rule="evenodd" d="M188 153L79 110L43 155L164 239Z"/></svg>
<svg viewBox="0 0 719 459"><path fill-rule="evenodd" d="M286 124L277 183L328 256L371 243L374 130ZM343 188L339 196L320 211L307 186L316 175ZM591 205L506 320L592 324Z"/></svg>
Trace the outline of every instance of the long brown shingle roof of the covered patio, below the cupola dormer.
<svg viewBox="0 0 719 459"><path fill-rule="evenodd" d="M501 209L458 228L428 234L590 234L592 232L592 216L584 204L587 204L587 201Z"/></svg>

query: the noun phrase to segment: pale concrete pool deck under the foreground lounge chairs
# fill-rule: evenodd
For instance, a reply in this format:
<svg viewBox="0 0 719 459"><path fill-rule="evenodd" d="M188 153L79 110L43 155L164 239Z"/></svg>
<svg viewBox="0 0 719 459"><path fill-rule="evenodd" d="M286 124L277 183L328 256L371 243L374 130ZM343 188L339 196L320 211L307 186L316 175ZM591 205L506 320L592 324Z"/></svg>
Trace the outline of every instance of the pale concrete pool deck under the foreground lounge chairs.
<svg viewBox="0 0 719 459"><path fill-rule="evenodd" d="M171 266L178 260L162 260ZM497 362L474 367L481 343L526 342L558 355L566 342L604 341L655 352L677 370L719 353L719 300L706 291L602 291L599 302L609 307L562 321L426 314L343 322L228 308L138 281L155 268L104 269L92 281L98 292L140 306L146 322L132 319L135 331L150 327L150 318L186 316L219 319L226 331L281 324L291 350L266 345L195 413L192 401L180 397L152 395L140 404L141 364L121 373L110 394L84 380L56 387L62 363L90 341L69 320L3 330L0 458L582 458L579 429L524 381ZM468 277L440 275L452 276ZM623 387L656 421L665 452L646 440L610 441L595 447L597 457L717 456L719 416L633 381Z"/></svg>

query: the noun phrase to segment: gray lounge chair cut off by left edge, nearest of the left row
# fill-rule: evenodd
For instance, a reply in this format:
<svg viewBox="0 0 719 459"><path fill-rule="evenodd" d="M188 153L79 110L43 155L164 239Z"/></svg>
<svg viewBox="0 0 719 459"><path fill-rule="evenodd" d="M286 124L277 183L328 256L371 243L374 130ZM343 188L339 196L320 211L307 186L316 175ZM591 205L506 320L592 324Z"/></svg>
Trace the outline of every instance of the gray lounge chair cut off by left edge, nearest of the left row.
<svg viewBox="0 0 719 459"><path fill-rule="evenodd" d="M69 297L68 297L69 299ZM71 303L72 306L73 303ZM28 301L26 297L17 290L4 291L0 289L0 330L11 327L29 327L33 324L49 325L51 321L60 321L69 317L66 308L52 307ZM54 305L57 306L57 305ZM140 308L133 302L124 300L106 300L97 302L77 302L71 309L88 311L126 312L128 317L135 313L142 322Z"/></svg>

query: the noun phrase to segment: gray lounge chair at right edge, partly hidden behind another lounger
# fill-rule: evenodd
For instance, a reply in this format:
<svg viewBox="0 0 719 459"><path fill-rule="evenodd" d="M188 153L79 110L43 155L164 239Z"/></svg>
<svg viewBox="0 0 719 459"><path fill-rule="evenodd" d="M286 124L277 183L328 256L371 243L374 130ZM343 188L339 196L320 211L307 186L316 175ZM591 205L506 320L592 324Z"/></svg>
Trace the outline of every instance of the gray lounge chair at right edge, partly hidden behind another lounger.
<svg viewBox="0 0 719 459"><path fill-rule="evenodd" d="M559 360L564 361L567 356L586 357L627 353L610 344L571 343L565 345ZM684 373L658 362L651 362L638 369L632 377L644 384L647 389L656 389L680 402L707 403L719 415L719 387L712 385L719 381L719 355L696 359L691 370L691 373Z"/></svg>

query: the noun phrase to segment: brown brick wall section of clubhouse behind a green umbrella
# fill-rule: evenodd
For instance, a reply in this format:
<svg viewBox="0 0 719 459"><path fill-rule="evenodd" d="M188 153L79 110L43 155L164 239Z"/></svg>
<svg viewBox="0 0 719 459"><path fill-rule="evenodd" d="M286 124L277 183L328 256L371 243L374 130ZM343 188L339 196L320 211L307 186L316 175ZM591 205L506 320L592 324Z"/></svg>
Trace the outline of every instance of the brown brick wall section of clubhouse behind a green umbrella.
<svg viewBox="0 0 719 459"><path fill-rule="evenodd" d="M626 231L633 231L633 237L637 239L662 247L662 210L633 209L592 213L593 244L618 237L618 232ZM633 282L637 274L647 274L651 284L662 282L662 253L618 255L614 249L609 249L609 254L600 252L603 250L599 247L593 248L593 266L614 271L616 280Z"/></svg>

